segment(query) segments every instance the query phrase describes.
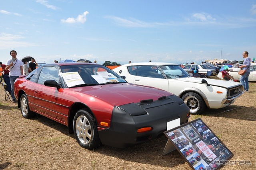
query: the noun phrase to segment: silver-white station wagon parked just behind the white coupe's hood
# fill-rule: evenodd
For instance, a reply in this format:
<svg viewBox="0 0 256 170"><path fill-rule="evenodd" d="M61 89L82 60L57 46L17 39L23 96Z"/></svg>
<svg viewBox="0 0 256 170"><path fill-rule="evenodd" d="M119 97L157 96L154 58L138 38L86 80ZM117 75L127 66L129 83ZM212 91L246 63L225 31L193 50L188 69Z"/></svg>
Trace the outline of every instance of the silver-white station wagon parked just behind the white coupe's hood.
<svg viewBox="0 0 256 170"><path fill-rule="evenodd" d="M215 76L217 74L216 69L209 68L206 64L187 64L183 69L188 73L193 73L193 70L198 69L198 73L202 73L204 75L207 75L207 71L211 72L211 76Z"/></svg>

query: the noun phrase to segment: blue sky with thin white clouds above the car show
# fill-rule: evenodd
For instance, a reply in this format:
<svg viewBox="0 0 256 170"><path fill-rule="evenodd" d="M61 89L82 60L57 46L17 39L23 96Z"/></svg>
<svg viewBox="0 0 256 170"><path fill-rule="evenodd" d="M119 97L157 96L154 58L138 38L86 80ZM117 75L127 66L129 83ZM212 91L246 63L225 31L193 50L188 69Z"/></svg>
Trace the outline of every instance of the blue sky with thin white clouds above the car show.
<svg viewBox="0 0 256 170"><path fill-rule="evenodd" d="M0 0L0 61L256 58L256 0Z"/></svg>

